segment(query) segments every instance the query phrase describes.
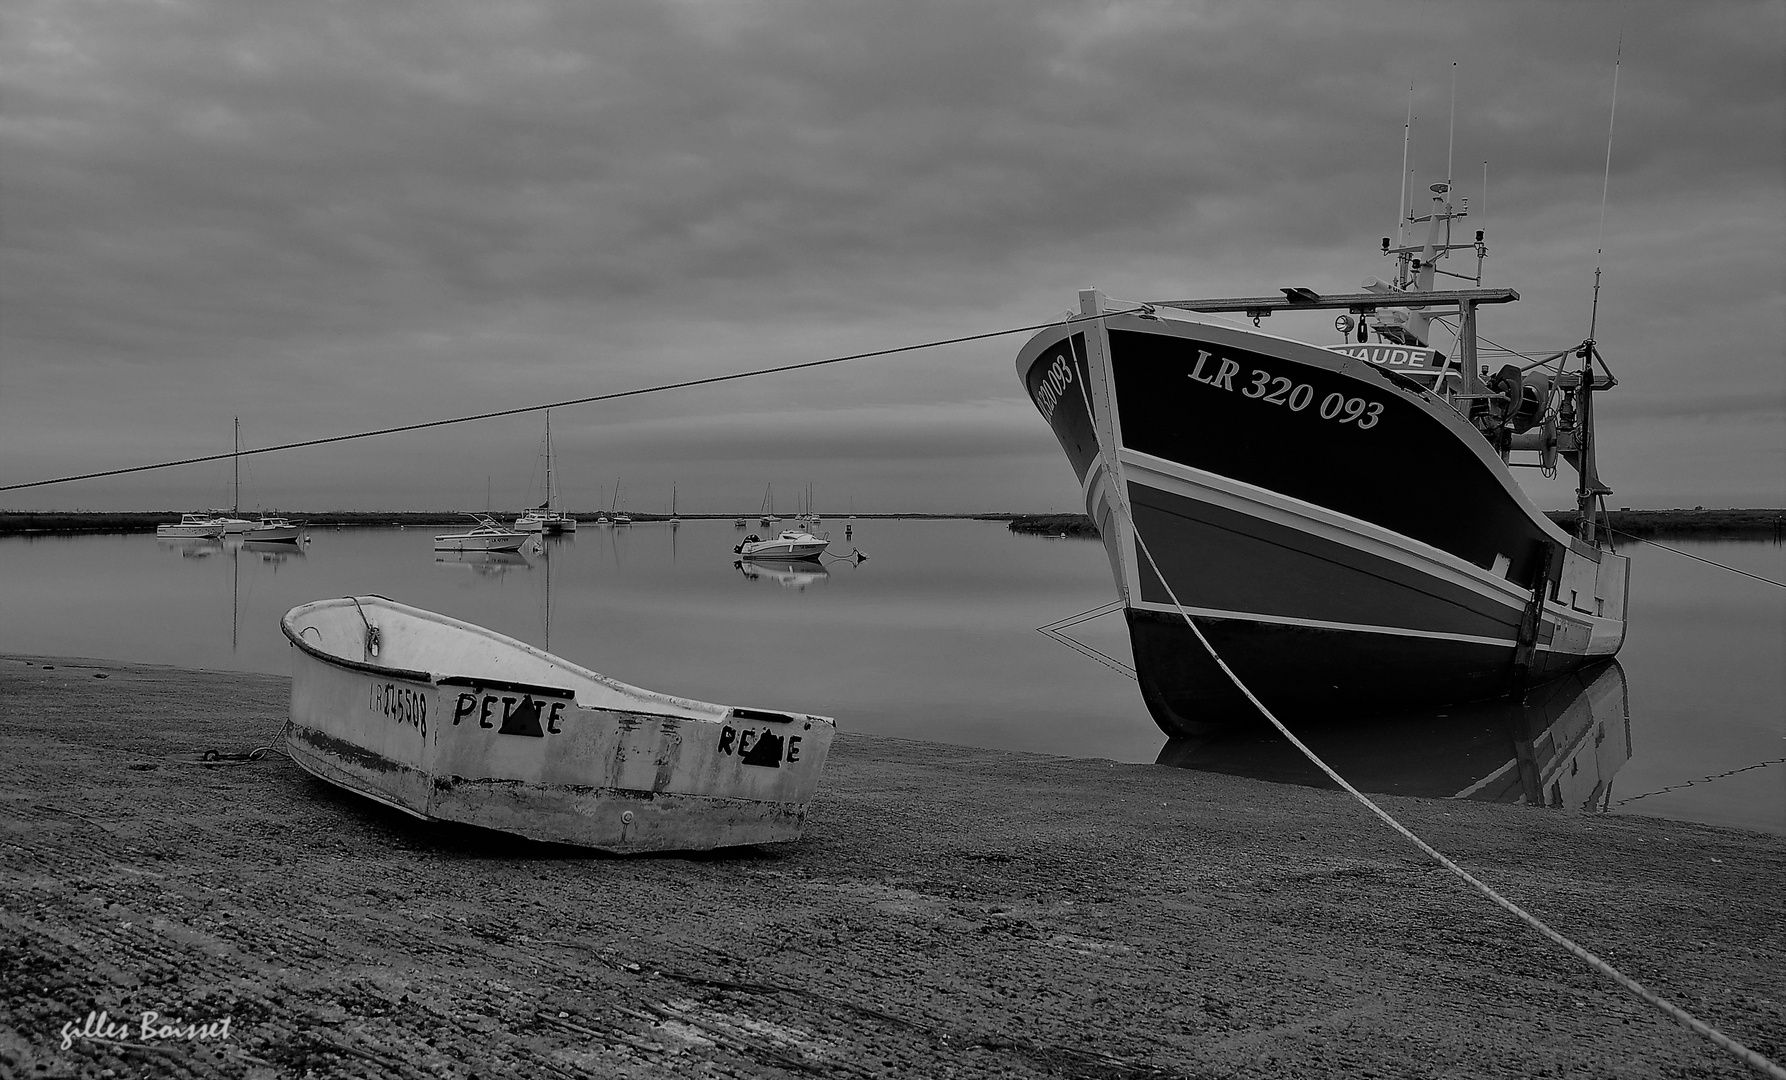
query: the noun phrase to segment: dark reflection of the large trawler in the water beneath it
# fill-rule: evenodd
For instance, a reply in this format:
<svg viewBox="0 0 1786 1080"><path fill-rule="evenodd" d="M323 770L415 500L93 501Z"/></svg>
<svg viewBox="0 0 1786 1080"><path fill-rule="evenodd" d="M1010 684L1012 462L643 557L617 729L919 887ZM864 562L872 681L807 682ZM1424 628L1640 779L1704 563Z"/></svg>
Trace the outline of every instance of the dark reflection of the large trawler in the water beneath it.
<svg viewBox="0 0 1786 1080"><path fill-rule="evenodd" d="M1631 705L1616 660L1522 698L1297 730L1359 791L1604 810L1631 759ZM1272 728L1173 739L1159 764L1334 787Z"/></svg>

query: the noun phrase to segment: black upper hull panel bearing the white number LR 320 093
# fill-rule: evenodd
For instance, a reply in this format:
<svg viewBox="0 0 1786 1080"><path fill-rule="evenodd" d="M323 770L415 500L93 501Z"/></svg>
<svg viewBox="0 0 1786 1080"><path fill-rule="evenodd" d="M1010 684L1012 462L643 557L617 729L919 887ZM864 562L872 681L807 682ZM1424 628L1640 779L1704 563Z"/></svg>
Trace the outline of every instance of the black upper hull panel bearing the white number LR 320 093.
<svg viewBox="0 0 1786 1080"><path fill-rule="evenodd" d="M1481 568L1506 555L1520 584L1547 543L1566 543L1473 428L1365 361L1177 321L1145 332L1113 325L1109 346L1131 450L1370 521ZM1368 414L1322 416L1345 400Z"/></svg>

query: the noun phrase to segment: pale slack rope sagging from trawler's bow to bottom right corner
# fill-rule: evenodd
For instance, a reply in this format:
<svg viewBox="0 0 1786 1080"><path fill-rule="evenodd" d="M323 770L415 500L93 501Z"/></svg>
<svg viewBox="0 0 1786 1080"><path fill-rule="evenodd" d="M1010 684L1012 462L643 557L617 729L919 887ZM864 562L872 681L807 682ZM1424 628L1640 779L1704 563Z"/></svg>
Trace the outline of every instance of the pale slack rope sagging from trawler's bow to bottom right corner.
<svg viewBox="0 0 1786 1080"><path fill-rule="evenodd" d="M1109 389L1106 387L1104 393L1106 393L1106 405L1107 405L1109 403L1107 402ZM1768 1059L1765 1053L1750 1050L1748 1046L1743 1046L1736 1039L1725 1035L1718 1028L1715 1028L1715 1026L1707 1025L1706 1021L1698 1019L1697 1016L1693 1016L1686 1009L1681 1009L1673 1001L1668 1001L1666 998L1656 994L1654 991L1650 991L1648 987L1645 987L1638 980L1631 978L1629 975L1625 975L1618 968L1613 968L1611 964L1607 964L1600 957L1593 955L1586 948L1575 944L1573 941L1570 941L1563 934L1552 930L1538 916L1527 912L1525 909L1522 909L1520 905L1513 903L1511 900L1507 900L1506 896L1502 896L1500 893L1497 893L1495 889L1491 889L1484 882L1477 880L1470 871L1466 871L1465 868L1461 868L1456 862L1452 862L1450 859L1447 859L1432 844L1425 843L1423 839L1420 839L1418 835L1415 835L1406 825L1402 825L1400 821L1397 821L1395 818L1391 818L1388 810L1384 810L1375 802L1372 802L1370 796L1366 796L1363 791L1359 791L1357 787L1352 787L1352 784L1348 784L1345 777L1341 777L1340 773L1336 773L1332 769L1332 766L1329 766L1325 760L1322 760L1320 755L1316 755L1313 750L1309 750L1302 743L1302 739L1298 739L1288 727L1284 727L1284 721L1277 719L1277 716L1270 709L1264 707L1264 702L1261 702L1252 693L1252 689L1248 689L1247 684L1241 682L1239 675L1236 675L1234 669L1227 666L1227 660L1223 660L1222 655L1214 650L1214 646L1209 644L1209 639L1204 637L1202 628L1197 625L1195 619L1191 619L1191 614L1188 611L1184 611L1182 603L1179 603L1177 593L1173 593L1172 584L1166 580L1166 575L1159 569L1159 564L1154 562L1154 553L1147 548L1147 543L1141 539L1141 530L1136 527L1134 516L1129 512L1129 502L1123 498L1122 482L1116 477L1114 459L1111 457L1111 452L1114 448L1106 450L1106 446L1104 446L1104 436L1102 436L1102 432L1098 432L1098 425L1097 425L1095 414L1091 412L1091 398L1086 396L1084 380L1079 380L1079 396L1086 403L1086 420L1091 421L1091 437L1098 443L1098 455L1104 457L1104 461L1106 461L1106 466L1104 466L1104 473L1107 477L1106 487L1111 491L1111 496L1113 496L1113 500L1116 503L1116 511L1122 514L1123 521L1127 521L1129 532L1134 534L1134 546L1136 546L1136 550L1139 550L1141 555L1147 559L1147 564L1154 569L1154 577L1159 578L1159 584L1166 589L1166 596L1172 600L1172 605L1179 611L1179 618L1182 618L1184 625L1189 627L1191 634L1197 636L1197 641L1209 653L1209 659L1214 660L1216 666L1222 668L1222 673L1229 677L1229 682L1232 682L1234 687L1241 694L1245 694L1248 702L1252 702L1254 709L1257 709L1259 714L1264 716L1272 723L1272 727L1277 728L1277 732L1281 735L1284 735L1286 739L1289 739L1291 746L1295 746L1297 750L1300 750L1302 755L1314 764L1314 768L1318 768L1320 771L1327 773L1329 780L1332 780L1341 789L1345 789L1345 793L1350 794L1359 803L1363 803L1365 809L1368 809L1372 814L1375 814L1377 818L1381 818L1384 825L1388 825L1390 828L1393 828L1395 832L1398 832L1406 841L1409 841L1411 844L1415 844L1416 848L1420 848L1422 852L1425 852L1434 862L1438 862L1440 866L1443 866L1450 873L1457 875L1457 878L1461 878L1465 884L1468 884L1477 893L1481 893L1482 896L1486 896L1497 907L1507 910L1509 914L1513 914L1515 918L1518 918L1520 921L1523 921L1532 930L1538 930L1540 934L1543 934L1547 939L1550 939L1554 944L1557 944L1559 948L1563 948L1570 955L1577 957L1579 960L1582 960L1584 964L1588 964L1590 968L1593 968L1600 975L1606 975L1607 978L1611 978L1618 985L1625 987L1632 994L1643 998L1645 1001L1648 1001L1650 1005L1654 1005L1661 1012L1668 1014L1672 1019L1675 1019L1675 1021L1686 1025L1688 1028L1698 1032L1700 1035L1704 1035L1706 1039L1709 1039L1716 1046L1723 1048L1725 1051L1729 1051L1731 1055L1734 1055L1738 1060L1741 1060L1743 1064L1750 1066L1752 1069L1766 1073L1768 1076L1773 1076L1775 1080L1786 1080L1786 1069L1782 1069L1781 1066L1773 1064L1773 1060Z"/></svg>

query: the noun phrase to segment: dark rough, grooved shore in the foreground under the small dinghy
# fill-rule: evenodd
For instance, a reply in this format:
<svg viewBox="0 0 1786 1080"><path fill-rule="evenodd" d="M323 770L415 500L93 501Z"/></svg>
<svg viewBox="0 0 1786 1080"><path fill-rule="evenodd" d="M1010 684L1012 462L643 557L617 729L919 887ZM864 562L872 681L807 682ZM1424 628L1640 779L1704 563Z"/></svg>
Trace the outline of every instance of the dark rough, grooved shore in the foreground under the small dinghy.
<svg viewBox="0 0 1786 1080"><path fill-rule="evenodd" d="M611 859L186 764L286 694L0 657L0 1073L1752 1075L1338 793L845 734L802 841ZM1786 839L1382 802L1786 1062Z"/></svg>

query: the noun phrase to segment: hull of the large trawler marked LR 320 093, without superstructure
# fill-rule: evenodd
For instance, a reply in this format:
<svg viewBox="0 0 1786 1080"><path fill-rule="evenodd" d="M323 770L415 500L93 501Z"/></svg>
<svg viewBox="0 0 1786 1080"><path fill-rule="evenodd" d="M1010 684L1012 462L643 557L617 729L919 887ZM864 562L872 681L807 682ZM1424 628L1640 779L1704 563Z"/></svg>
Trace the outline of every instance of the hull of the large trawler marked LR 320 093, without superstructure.
<svg viewBox="0 0 1786 1080"><path fill-rule="evenodd" d="M1229 321L1032 337L1031 398L1109 553L1154 721L1320 718L1513 693L1623 641L1627 562L1572 539L1448 403ZM1534 598L1536 596L1536 598Z"/></svg>

